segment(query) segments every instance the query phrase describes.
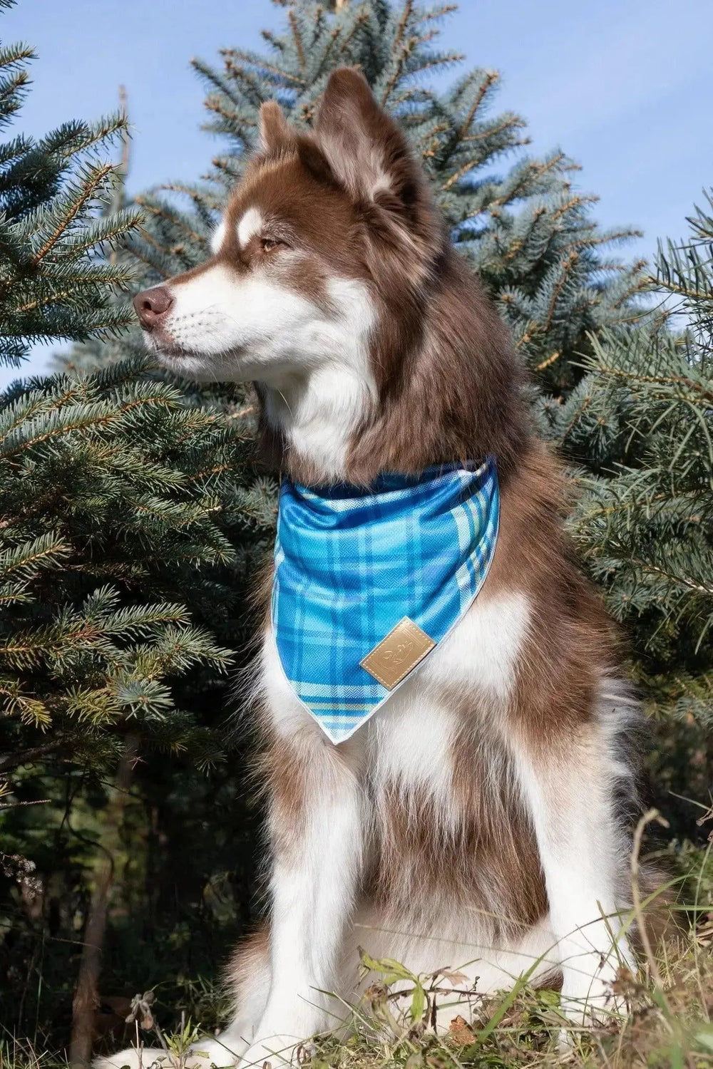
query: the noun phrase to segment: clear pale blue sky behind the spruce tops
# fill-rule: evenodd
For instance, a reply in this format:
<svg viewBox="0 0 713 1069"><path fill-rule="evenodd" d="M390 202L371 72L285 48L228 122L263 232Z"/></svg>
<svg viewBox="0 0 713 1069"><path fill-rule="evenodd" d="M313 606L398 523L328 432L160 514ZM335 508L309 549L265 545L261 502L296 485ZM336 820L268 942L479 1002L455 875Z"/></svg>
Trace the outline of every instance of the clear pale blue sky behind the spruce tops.
<svg viewBox="0 0 713 1069"><path fill-rule="evenodd" d="M283 16L269 0L19 0L0 36L32 44L38 60L17 128L42 135L113 110L123 83L130 189L195 179L217 142L199 128L190 58L260 48L260 29ZM577 159L600 221L644 230L631 255L650 257L713 185L712 41L711 0L463 0L440 44L501 72L497 106L525 117L531 151L559 145ZM49 353L35 350L27 371ZM0 369L0 385L16 374Z"/></svg>

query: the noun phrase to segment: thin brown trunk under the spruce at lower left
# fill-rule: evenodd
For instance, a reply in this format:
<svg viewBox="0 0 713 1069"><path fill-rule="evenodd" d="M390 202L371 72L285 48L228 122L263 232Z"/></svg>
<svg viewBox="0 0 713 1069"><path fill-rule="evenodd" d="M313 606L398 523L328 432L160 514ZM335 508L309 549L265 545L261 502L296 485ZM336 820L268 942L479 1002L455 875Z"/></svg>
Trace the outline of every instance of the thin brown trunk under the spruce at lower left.
<svg viewBox="0 0 713 1069"><path fill-rule="evenodd" d="M99 839L100 855L94 870L94 889L84 927L77 988L72 1003L72 1040L69 1043L72 1069L87 1069L92 1057L94 1012L98 1006L102 947L107 927L109 895L114 877L113 854L118 846L119 831L126 806L137 749L137 737L127 735L124 753L117 769L113 791L107 806L104 832Z"/></svg>

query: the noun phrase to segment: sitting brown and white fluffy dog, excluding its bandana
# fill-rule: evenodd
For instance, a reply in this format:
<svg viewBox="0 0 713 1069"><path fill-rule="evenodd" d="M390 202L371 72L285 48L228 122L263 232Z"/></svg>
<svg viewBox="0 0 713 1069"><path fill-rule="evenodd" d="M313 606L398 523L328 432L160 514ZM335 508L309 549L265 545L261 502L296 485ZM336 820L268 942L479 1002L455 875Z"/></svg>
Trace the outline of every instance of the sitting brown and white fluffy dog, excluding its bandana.
<svg viewBox="0 0 713 1069"><path fill-rule="evenodd" d="M332 74L311 134L266 104L261 138L212 259L136 297L148 346L189 378L255 381L264 444L301 483L493 453L500 536L466 616L341 745L266 625L269 930L237 951L234 1018L189 1064L289 1062L337 1023L324 992L355 992L357 944L480 992L558 972L586 1023L633 965L619 914L637 711L572 561L557 465L508 332L365 79Z"/></svg>

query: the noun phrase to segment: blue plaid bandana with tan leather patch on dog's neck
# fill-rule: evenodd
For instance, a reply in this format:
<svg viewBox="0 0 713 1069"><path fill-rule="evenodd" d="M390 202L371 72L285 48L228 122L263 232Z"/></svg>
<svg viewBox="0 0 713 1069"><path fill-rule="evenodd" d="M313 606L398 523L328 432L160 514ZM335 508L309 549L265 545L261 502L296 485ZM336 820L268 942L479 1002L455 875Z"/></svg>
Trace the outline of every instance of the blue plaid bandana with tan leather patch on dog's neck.
<svg viewBox="0 0 713 1069"><path fill-rule="evenodd" d="M467 611L498 533L495 463L383 475L368 493L283 481L273 628L334 743L361 727Z"/></svg>

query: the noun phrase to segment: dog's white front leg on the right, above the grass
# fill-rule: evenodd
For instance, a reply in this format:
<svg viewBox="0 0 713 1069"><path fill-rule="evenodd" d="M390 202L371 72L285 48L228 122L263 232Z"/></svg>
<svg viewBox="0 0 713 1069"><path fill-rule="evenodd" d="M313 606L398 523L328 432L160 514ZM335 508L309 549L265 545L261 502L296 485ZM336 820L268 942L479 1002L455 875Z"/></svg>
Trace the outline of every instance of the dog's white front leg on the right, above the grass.
<svg viewBox="0 0 713 1069"><path fill-rule="evenodd" d="M617 972L635 967L620 915L627 848L615 812L621 765L595 723L547 745L521 735L515 760L561 962L561 1008L578 1024L610 1018L623 1008L611 990Z"/></svg>

